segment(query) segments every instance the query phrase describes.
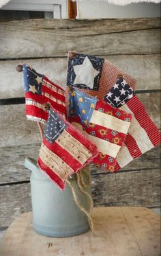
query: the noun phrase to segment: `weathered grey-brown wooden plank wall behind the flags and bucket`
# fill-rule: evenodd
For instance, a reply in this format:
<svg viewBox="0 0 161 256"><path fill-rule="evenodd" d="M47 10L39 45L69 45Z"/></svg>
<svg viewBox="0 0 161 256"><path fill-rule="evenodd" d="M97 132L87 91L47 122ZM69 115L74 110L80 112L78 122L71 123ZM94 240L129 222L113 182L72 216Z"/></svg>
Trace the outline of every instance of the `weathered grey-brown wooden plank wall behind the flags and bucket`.
<svg viewBox="0 0 161 256"><path fill-rule="evenodd" d="M160 20L32 20L0 23L0 230L31 209L26 156L37 158L40 135L26 121L22 73L27 62L65 86L68 50L102 56L137 79L137 93L160 128ZM96 206L160 207L160 148L117 174L91 166Z"/></svg>

